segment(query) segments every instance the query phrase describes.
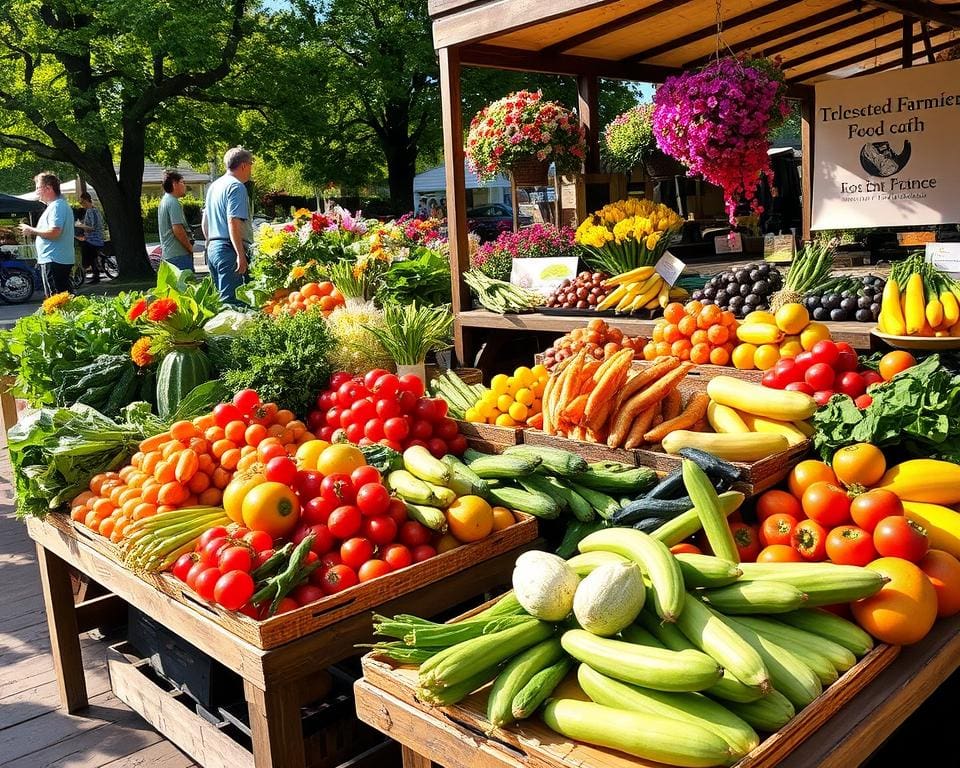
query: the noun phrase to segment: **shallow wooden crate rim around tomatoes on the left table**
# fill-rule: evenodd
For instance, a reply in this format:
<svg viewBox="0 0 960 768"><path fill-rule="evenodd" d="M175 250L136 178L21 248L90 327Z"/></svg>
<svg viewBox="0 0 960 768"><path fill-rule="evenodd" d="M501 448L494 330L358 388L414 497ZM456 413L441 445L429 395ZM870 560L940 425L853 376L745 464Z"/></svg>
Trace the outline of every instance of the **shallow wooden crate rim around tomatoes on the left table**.
<svg viewBox="0 0 960 768"><path fill-rule="evenodd" d="M464 544L422 563L401 568L372 582L357 584L316 603L264 621L255 621L242 613L227 611L208 603L168 573L139 575L164 594L189 606L228 632L257 648L268 650L330 627L347 617L376 608L395 597L536 539L536 518L522 512L517 514L520 519L515 525L496 531L481 541ZM69 517L51 513L46 522L72 535L83 536L100 554L120 562L117 545L83 525L75 524Z"/></svg>

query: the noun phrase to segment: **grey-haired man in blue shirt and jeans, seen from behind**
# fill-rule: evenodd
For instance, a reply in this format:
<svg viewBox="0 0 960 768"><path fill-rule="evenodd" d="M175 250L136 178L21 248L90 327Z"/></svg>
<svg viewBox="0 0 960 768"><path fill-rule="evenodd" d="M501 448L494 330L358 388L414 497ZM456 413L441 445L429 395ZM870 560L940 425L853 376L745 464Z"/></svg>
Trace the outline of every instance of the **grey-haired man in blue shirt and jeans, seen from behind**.
<svg viewBox="0 0 960 768"><path fill-rule="evenodd" d="M250 197L244 186L250 180L253 155L243 147L232 147L223 156L223 164L226 173L207 190L201 226L210 277L220 299L226 304L239 304L237 288L245 280L253 241Z"/></svg>

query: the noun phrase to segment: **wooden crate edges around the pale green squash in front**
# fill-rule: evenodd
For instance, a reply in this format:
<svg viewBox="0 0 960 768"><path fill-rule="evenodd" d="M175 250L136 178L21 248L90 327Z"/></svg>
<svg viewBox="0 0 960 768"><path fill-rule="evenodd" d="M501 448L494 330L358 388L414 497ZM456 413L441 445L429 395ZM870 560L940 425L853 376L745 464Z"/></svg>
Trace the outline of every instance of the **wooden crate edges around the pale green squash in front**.
<svg viewBox="0 0 960 768"><path fill-rule="evenodd" d="M773 768L808 736L827 722L834 713L857 695L879 675L899 654L899 646L878 645L855 666L847 670L815 701L803 709L787 725L767 738L734 768ZM414 667L395 667L389 661L374 655L364 656L363 680L356 685L357 713L368 722L395 738L392 733L388 706L380 704L379 694L392 697L403 708L414 714L421 727L428 748L443 750L447 745L437 742L431 731L462 731L475 740L481 753L502 755L502 761L481 761L478 765L535 765L539 768L662 768L661 763L631 757L622 752L593 747L569 739L550 730L539 718L524 720L509 728L493 729L486 719L487 693L485 686L453 707L429 707L416 699L417 671ZM573 681L576 672L571 673ZM451 734L452 735L452 734ZM682 735L681 735L682 737ZM419 741L419 738L418 738ZM431 757L428 750L426 757Z"/></svg>

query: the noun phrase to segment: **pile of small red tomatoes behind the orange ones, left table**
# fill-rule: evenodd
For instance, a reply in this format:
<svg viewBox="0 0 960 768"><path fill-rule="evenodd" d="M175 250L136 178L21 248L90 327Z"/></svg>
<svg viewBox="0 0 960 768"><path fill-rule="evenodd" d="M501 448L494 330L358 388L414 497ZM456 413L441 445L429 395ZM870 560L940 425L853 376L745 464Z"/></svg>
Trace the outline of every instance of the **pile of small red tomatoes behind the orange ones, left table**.
<svg viewBox="0 0 960 768"><path fill-rule="evenodd" d="M329 389L317 395L307 424L321 440L335 443L345 437L357 445L379 443L395 451L422 445L438 459L448 453L460 456L467 448L457 422L447 416L447 402L424 397L419 376L379 368L362 378L333 374Z"/></svg>

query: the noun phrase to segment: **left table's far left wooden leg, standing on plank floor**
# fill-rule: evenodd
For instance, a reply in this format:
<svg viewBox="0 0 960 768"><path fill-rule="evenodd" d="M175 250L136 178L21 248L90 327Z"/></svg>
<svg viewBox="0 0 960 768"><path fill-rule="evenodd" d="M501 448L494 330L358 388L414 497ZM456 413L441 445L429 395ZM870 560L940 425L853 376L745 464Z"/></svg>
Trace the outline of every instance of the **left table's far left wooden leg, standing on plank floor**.
<svg viewBox="0 0 960 768"><path fill-rule="evenodd" d="M73 713L87 706L87 681L83 676L80 632L73 605L70 569L52 552L37 545L37 562L43 583L43 602L50 630L50 650L60 687L60 702Z"/></svg>

